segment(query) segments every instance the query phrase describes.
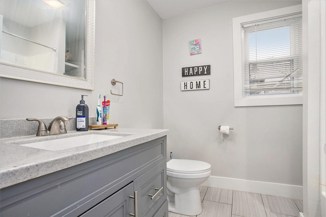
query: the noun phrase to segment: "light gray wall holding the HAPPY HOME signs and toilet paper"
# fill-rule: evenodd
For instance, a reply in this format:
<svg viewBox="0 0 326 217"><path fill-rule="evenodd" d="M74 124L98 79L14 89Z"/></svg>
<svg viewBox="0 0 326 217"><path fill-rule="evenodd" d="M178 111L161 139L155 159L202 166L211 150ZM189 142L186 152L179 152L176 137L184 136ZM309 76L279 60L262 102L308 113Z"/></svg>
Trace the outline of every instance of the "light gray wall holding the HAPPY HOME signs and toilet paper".
<svg viewBox="0 0 326 217"><path fill-rule="evenodd" d="M212 165L212 176L302 185L302 105L234 107L232 18L301 4L236 1L163 21L164 127L174 158ZM189 56L200 38L203 53ZM211 65L211 75L181 68ZM210 79L210 90L180 91L184 80ZM223 142L218 126L234 127Z"/></svg>

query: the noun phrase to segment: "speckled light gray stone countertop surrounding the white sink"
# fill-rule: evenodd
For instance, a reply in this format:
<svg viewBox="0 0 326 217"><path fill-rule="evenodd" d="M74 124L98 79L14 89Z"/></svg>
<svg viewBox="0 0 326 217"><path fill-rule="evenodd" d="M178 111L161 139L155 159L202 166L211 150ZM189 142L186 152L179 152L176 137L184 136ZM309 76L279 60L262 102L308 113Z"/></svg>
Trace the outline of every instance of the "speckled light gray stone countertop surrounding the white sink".
<svg viewBox="0 0 326 217"><path fill-rule="evenodd" d="M167 135L167 129L115 128L106 130L70 131L45 137L25 136L0 140L0 188L73 167L126 148ZM84 134L119 135L121 138L60 151L20 146L19 144L61 139Z"/></svg>

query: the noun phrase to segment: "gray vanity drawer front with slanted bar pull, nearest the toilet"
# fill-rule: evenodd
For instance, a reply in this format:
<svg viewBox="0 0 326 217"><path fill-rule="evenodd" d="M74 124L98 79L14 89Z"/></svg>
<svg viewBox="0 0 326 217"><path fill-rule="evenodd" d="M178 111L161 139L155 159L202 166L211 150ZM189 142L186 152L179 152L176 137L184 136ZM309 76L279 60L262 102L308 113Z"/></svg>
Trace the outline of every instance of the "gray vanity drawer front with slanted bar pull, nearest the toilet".
<svg viewBox="0 0 326 217"><path fill-rule="evenodd" d="M152 217L166 201L166 167L164 160L133 181L138 192L138 216Z"/></svg>

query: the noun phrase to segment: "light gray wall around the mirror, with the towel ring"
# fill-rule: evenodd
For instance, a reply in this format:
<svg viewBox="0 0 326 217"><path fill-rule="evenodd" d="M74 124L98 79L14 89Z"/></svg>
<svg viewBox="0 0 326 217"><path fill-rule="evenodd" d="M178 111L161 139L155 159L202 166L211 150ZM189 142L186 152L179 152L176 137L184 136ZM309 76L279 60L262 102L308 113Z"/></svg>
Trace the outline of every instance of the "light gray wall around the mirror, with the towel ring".
<svg viewBox="0 0 326 217"><path fill-rule="evenodd" d="M95 117L97 94L105 94L111 100L110 123L163 127L161 18L146 1L96 1L95 15L95 90L1 78L1 119L75 117L81 94L88 95ZM112 78L124 83L123 97L110 94L121 91Z"/></svg>

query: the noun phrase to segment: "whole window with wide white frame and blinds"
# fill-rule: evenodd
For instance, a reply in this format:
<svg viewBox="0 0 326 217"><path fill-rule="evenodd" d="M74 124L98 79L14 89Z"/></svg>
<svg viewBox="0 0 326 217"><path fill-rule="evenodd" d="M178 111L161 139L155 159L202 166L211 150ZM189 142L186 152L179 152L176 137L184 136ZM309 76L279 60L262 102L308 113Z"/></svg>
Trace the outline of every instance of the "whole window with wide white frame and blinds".
<svg viewBox="0 0 326 217"><path fill-rule="evenodd" d="M234 105L302 104L301 5L233 18Z"/></svg>

